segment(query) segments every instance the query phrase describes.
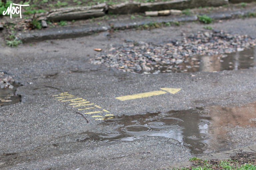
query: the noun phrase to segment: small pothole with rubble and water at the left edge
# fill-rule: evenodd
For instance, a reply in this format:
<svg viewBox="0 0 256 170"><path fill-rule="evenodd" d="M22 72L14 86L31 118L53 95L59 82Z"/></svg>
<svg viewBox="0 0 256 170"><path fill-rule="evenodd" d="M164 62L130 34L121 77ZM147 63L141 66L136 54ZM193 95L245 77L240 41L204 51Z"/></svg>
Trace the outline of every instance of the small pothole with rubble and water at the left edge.
<svg viewBox="0 0 256 170"><path fill-rule="evenodd" d="M20 102L21 96L15 95L19 86L19 84L14 83L12 76L0 72L0 107Z"/></svg>

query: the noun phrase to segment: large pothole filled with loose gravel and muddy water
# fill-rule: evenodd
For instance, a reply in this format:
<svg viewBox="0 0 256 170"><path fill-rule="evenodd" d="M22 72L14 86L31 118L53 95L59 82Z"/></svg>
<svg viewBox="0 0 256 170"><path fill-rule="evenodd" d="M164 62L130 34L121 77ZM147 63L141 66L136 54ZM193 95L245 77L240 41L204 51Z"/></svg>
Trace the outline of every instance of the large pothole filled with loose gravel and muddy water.
<svg viewBox="0 0 256 170"><path fill-rule="evenodd" d="M245 69L255 67L255 46L256 39L247 35L214 30L162 44L133 40L110 44L91 63L148 74Z"/></svg>

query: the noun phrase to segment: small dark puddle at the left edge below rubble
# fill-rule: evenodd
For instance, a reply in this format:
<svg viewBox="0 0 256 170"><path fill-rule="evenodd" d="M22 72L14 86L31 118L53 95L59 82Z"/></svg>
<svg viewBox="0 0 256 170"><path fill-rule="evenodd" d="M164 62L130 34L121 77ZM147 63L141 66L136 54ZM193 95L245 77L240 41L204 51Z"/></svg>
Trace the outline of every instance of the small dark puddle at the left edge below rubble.
<svg viewBox="0 0 256 170"><path fill-rule="evenodd" d="M8 106L11 104L16 104L20 102L21 96L16 96L16 88L18 88L19 84L12 84L13 88L0 88L0 107Z"/></svg>

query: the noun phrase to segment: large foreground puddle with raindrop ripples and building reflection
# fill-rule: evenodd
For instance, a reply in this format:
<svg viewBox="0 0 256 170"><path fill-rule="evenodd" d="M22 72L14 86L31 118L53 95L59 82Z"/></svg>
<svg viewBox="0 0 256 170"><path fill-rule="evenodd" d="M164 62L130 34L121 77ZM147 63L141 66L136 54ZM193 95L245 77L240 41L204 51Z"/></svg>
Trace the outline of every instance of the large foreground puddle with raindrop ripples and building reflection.
<svg viewBox="0 0 256 170"><path fill-rule="evenodd" d="M226 128L255 127L256 103L242 107L210 106L166 113L115 116L100 125L113 125L113 131L88 133L94 140L135 140L140 136L162 136L178 140L193 153L214 153L233 148Z"/></svg>

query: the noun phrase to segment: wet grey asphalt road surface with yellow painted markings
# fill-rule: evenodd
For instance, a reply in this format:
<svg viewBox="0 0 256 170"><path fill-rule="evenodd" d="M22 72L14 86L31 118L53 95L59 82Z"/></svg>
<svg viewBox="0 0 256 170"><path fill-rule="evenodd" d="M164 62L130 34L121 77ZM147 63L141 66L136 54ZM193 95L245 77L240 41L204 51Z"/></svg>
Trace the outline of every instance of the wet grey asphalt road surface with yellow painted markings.
<svg viewBox="0 0 256 170"><path fill-rule="evenodd" d="M127 135L128 128L131 122L138 129L148 127L149 121L156 118L163 122L172 110L177 113L187 110L182 117L176 115L176 120L185 120L188 110L211 106L245 106L255 114L255 67L220 72L137 74L90 64L90 59L98 53L94 48L105 48L109 43L122 43L125 39L165 43L181 39L182 33L203 31L203 26L186 23L151 31L128 30L108 36L101 33L37 42L32 46L0 47L0 71L14 75L16 82L23 85L16 91L21 95L20 103L0 107L0 169L153 169L210 154L207 150L193 151L197 145L185 144L185 139L179 137L181 134L143 135L147 131L143 129ZM230 34L256 37L256 19L223 21L211 26ZM256 51L254 55L256 57ZM150 97L116 99L133 94L148 95L147 92L152 92ZM76 112L85 113L89 122ZM141 117L134 117L136 115ZM193 118L191 122L186 120L184 127L193 128ZM255 120L250 117L250 121ZM225 141L232 141L222 143L223 148L256 144L255 122L250 126L232 125L218 124L222 129L218 133L225 133L222 134ZM124 126L126 135L122 136L119 132ZM114 137L101 137L103 134ZM212 139L215 144L220 141L216 135Z"/></svg>

